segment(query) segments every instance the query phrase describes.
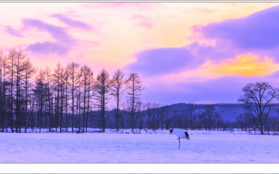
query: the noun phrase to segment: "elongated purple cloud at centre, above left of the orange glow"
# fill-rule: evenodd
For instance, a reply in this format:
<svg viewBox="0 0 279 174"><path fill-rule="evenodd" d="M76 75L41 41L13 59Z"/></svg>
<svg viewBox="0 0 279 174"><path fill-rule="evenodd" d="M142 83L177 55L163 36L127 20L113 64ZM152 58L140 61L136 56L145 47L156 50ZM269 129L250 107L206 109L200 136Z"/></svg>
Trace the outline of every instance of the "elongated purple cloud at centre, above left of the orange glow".
<svg viewBox="0 0 279 174"><path fill-rule="evenodd" d="M186 47L148 49L138 52L135 54L137 61L128 65L126 70L136 71L145 76L178 73L199 67L206 58L220 61L235 55L234 50L227 51L224 47L216 49L194 42Z"/></svg>

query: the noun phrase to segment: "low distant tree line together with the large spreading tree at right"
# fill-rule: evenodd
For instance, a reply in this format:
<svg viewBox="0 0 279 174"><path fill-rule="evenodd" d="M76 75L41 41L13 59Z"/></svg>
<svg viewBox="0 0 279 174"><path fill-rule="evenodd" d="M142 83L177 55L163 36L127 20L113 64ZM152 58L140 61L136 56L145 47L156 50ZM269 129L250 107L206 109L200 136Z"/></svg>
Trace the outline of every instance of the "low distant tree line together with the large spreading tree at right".
<svg viewBox="0 0 279 174"><path fill-rule="evenodd" d="M137 104L135 126L139 129L169 129L171 127L191 130L233 130L279 132L279 90L267 82L247 84L239 97L241 113L235 120L223 119L215 104L188 103L184 109L161 106L149 102ZM130 116L125 109L121 111L121 128L130 128ZM108 127L114 129L114 111L107 113Z"/></svg>

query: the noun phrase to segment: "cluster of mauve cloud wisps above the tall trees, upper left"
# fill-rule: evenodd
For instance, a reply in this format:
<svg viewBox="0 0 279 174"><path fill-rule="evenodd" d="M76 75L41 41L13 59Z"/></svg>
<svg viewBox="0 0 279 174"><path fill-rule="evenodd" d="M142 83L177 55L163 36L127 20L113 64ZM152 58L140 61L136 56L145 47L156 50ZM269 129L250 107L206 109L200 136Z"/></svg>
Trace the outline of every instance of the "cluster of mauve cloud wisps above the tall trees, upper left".
<svg viewBox="0 0 279 174"><path fill-rule="evenodd" d="M92 29L88 24L78 20L70 19L65 15L54 14L52 17L58 18L61 20L61 22L73 28L80 28L83 30ZM31 51L35 54L58 54L60 56L65 56L78 42L78 40L73 38L72 35L68 33L68 29L65 27L48 24L40 19L30 18L23 19L22 23L22 29L15 30L11 26L6 26L6 32L17 37L22 37L22 32L29 29L36 29L38 31L46 31L47 33L50 33L52 38L55 40L54 42L35 42L28 45L27 51ZM94 43L94 45L96 45L96 43Z"/></svg>

